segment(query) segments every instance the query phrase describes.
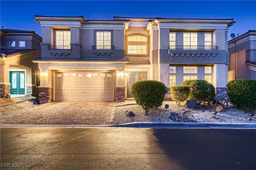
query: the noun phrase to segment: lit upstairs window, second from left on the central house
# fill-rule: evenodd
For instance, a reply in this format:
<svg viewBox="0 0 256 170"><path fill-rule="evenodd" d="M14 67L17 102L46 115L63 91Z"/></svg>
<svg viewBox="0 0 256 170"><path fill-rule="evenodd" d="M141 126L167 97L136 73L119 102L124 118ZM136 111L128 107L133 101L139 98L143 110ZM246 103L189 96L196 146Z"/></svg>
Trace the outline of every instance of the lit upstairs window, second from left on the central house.
<svg viewBox="0 0 256 170"><path fill-rule="evenodd" d="M111 49L110 31L97 31L96 39L96 49Z"/></svg>

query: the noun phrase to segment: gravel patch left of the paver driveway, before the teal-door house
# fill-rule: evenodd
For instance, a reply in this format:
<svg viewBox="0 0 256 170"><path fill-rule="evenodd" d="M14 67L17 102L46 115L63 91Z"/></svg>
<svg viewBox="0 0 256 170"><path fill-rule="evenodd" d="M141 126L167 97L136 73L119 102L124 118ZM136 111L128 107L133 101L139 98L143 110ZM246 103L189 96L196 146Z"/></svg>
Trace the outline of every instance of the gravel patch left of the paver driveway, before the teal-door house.
<svg viewBox="0 0 256 170"><path fill-rule="evenodd" d="M9 101L9 105L0 107L0 111L1 111L0 119L2 120L8 117L12 117L21 112L28 111L29 109L31 109L31 107L38 106L37 104L33 104L31 100L28 100L31 98L34 98L34 97L7 98L7 99L1 98L1 99L5 99L5 100L1 100L1 105L2 105L2 101L5 101L5 104L8 104L8 101ZM22 100L26 100L26 101L20 102ZM14 102L20 102L20 103L14 103Z"/></svg>

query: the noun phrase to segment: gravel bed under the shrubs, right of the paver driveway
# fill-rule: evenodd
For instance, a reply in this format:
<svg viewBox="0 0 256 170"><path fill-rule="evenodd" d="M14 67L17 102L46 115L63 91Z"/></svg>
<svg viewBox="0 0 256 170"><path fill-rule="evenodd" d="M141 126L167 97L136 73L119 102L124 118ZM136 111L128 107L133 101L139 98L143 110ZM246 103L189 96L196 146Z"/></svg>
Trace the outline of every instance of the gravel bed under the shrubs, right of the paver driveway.
<svg viewBox="0 0 256 170"><path fill-rule="evenodd" d="M125 102L122 102L126 104ZM128 102L131 104L132 102ZM169 105L166 109L165 104ZM248 113L242 109L228 108L226 112L217 113L218 119L212 118L214 109L206 110L202 106L187 108L181 103L177 106L176 102L165 101L158 109L150 109L148 115L144 115L144 109L136 104L129 106L116 107L112 125L132 122L201 122L201 123L256 123L256 115L252 121L248 121ZM135 116L126 116L126 111L130 110Z"/></svg>

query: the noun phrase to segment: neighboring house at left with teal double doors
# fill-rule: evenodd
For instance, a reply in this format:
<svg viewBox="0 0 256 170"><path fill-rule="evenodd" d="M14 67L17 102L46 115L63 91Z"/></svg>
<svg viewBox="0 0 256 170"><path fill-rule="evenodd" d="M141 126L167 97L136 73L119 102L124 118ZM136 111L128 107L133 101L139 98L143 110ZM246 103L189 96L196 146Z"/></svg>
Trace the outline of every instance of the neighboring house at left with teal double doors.
<svg viewBox="0 0 256 170"><path fill-rule="evenodd" d="M34 31L0 30L1 98L36 96L40 70L32 60L41 57L42 37Z"/></svg>

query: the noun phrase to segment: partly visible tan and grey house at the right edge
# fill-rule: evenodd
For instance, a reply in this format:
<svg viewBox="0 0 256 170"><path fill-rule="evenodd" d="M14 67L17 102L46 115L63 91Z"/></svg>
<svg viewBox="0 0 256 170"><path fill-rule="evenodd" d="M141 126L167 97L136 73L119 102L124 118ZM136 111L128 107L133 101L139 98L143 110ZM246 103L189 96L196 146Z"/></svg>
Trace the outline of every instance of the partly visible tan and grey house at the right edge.
<svg viewBox="0 0 256 170"><path fill-rule="evenodd" d="M256 30L228 41L228 81L240 78L256 80Z"/></svg>

